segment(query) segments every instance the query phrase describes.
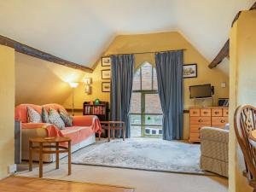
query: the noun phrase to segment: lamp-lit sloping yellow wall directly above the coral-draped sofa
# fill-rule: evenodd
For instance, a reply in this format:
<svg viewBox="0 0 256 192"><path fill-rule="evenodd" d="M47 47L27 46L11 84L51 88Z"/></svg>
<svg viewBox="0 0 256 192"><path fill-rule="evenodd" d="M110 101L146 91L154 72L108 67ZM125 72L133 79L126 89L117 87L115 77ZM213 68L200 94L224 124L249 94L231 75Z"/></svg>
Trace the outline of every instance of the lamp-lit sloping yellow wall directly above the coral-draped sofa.
<svg viewBox="0 0 256 192"><path fill-rule="evenodd" d="M15 52L15 105L60 103L71 93L67 82L80 81L84 72Z"/></svg>

